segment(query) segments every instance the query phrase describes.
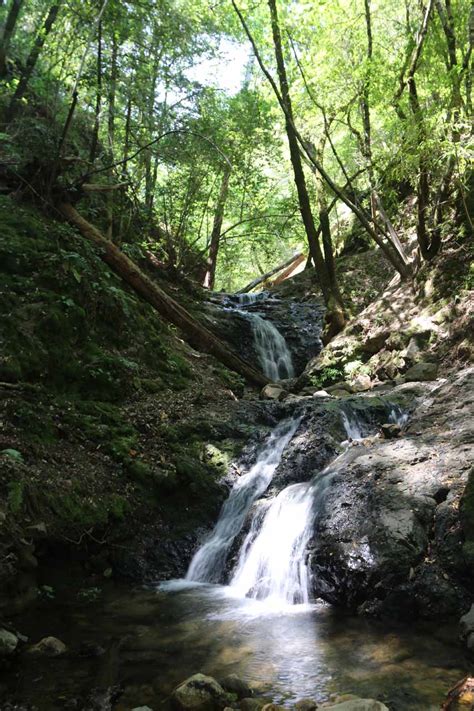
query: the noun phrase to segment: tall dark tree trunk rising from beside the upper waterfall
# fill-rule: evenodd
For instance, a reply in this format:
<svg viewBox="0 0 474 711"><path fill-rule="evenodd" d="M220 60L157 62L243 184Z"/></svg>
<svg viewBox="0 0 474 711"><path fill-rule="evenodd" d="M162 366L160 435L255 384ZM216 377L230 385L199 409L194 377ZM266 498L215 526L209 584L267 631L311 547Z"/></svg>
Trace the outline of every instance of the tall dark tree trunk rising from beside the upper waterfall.
<svg viewBox="0 0 474 711"><path fill-rule="evenodd" d="M280 26L278 24L278 11L276 6L276 0L268 0L268 6L270 8L271 23L272 23L272 34L273 34L273 45L275 49L275 59L277 63L278 79L280 83L280 91L282 96L282 101L285 107L285 127L286 135L288 138L288 145L290 148L290 158L291 164L293 166L293 174L296 184L296 190L298 193L298 202L301 212L301 217L306 231L306 237L308 239L309 250L313 258L313 262L318 272L319 280L321 283L321 289L324 296L324 301L328 307L328 316L332 318L331 310L336 306L334 311L334 319L341 330L344 326L344 318L341 318L341 314L344 313L344 308L340 302L340 296L335 293L331 285L331 280L329 277L327 265L324 261L323 253L318 240L318 235L316 231L316 226L314 224L313 214L311 212L311 204L308 195L308 189L306 187L306 179L303 170L303 163L301 160L300 149L298 145L298 138L294 130L294 117L293 117L293 107L291 104L290 90L288 86L288 78L286 75L285 61L283 59L282 41Z"/></svg>

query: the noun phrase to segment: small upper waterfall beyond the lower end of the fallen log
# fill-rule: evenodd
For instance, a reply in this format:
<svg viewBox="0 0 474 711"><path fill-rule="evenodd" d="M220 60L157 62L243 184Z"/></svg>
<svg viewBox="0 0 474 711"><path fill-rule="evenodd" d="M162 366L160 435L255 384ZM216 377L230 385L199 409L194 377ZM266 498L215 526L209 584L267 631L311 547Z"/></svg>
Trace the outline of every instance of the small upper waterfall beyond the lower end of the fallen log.
<svg viewBox="0 0 474 711"><path fill-rule="evenodd" d="M252 324L255 349L263 372L270 380L284 380L295 374L287 343L271 321L247 314Z"/></svg>

